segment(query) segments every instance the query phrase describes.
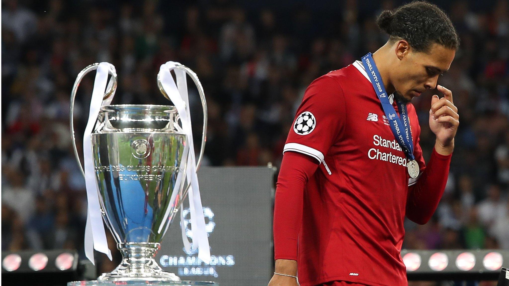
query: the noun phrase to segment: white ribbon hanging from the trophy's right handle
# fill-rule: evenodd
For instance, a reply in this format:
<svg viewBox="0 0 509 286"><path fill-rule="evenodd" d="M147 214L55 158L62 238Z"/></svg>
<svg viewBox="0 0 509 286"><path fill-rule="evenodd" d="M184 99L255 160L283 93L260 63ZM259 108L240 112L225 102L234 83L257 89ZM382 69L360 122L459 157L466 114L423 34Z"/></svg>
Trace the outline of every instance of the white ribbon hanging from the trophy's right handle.
<svg viewBox="0 0 509 286"><path fill-rule="evenodd" d="M196 175L196 158L194 154L194 142L192 137L191 113L189 109L189 98L187 94L186 72L181 69L176 69L176 65L180 64L176 62L166 62L165 64L161 65L159 70L159 79L164 92L168 95L169 99L173 102L173 104L175 104L175 107L177 108L182 123L182 129L184 130L184 133L187 137L187 148L185 148L183 155L185 156L184 158L186 158L187 162L187 182L190 184L188 196L189 211L191 214L192 245L193 247L198 247L198 258L208 264L210 262L209 238L207 236L202 199L200 197L200 187L198 185L198 177ZM175 80L171 74L172 70L175 72L177 83L175 83ZM180 180L182 180L182 178ZM177 181L179 181L179 176L177 177ZM180 186L180 184L175 185L176 188L178 186ZM176 194L176 192L174 192L174 194ZM175 197L172 196L170 204L174 203ZM168 211L164 216L165 219L168 218L169 209L170 208L168 208ZM190 251L191 245L187 240L187 236L185 235L185 224L182 216L182 209L180 217L184 246L187 251ZM163 223L161 223L161 226L159 227L159 233L161 232L162 225Z"/></svg>

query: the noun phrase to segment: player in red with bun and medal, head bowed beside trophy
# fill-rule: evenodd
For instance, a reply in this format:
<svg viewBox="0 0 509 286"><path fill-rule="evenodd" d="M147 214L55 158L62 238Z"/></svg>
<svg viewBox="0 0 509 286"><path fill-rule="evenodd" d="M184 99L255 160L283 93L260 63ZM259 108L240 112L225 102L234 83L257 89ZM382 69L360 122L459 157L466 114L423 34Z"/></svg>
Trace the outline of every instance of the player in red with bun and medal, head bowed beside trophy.
<svg viewBox="0 0 509 286"><path fill-rule="evenodd" d="M404 218L431 218L454 149L458 109L437 80L459 39L426 2L384 11L377 24L387 43L313 81L298 108L277 181L269 286L407 285ZM410 101L435 88L444 97L431 100L425 164Z"/></svg>

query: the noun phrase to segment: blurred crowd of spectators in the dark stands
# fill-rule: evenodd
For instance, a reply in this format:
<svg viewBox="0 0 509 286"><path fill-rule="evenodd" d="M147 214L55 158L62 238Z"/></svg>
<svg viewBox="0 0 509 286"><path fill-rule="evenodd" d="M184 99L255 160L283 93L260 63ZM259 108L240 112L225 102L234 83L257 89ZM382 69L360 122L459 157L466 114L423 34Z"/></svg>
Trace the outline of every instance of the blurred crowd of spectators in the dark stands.
<svg viewBox="0 0 509 286"><path fill-rule="evenodd" d="M345 0L318 11L230 0L3 1L2 250L82 250L86 191L69 105L84 67L116 66L114 104L167 104L156 85L159 66L173 60L190 67L209 108L204 164L277 166L307 85L387 40L376 16L401 3L376 3ZM509 249L509 3L470 5L440 5L461 38L439 79L453 91L461 124L444 197L431 222L406 224L407 248ZM78 149L93 78L77 96ZM433 92L413 100L426 159L435 140L428 126ZM201 107L190 93L199 138Z"/></svg>

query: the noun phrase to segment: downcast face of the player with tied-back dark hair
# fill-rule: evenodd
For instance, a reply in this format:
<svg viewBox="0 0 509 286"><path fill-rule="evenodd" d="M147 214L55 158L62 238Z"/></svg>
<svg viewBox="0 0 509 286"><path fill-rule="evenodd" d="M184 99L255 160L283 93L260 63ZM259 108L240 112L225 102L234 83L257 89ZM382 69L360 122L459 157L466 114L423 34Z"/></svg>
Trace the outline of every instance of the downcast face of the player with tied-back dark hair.
<svg viewBox="0 0 509 286"><path fill-rule="evenodd" d="M404 102L410 102L428 89L435 89L438 76L449 69L456 54L456 50L436 43L427 52L399 49L398 46L396 52L400 52L400 61L391 78L396 98Z"/></svg>

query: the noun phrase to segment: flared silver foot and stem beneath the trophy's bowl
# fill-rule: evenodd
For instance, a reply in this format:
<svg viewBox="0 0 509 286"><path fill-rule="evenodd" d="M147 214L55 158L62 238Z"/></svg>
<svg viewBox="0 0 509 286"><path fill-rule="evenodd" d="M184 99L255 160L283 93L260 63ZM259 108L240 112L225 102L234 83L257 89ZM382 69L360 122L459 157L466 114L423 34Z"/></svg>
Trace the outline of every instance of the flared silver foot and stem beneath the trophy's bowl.
<svg viewBox="0 0 509 286"><path fill-rule="evenodd" d="M180 281L180 278L159 267L154 255L161 247L159 243L118 243L117 248L122 253L122 262L110 273L103 273L98 280L108 281Z"/></svg>

